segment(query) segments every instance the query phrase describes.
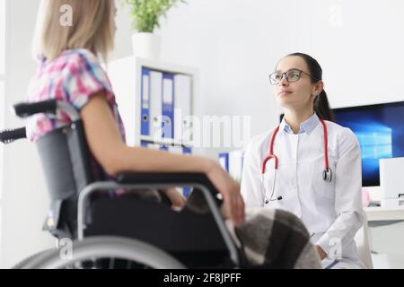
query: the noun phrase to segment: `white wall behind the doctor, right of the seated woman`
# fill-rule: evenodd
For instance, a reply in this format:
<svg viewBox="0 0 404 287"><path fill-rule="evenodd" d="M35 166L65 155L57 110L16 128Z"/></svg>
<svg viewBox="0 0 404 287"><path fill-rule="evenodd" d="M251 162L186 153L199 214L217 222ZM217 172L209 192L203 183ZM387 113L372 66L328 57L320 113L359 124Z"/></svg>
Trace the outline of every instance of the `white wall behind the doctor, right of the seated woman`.
<svg viewBox="0 0 404 287"><path fill-rule="evenodd" d="M268 74L288 53L317 58L332 108L404 100L399 0L189 0L162 21L162 60L201 70L203 115L251 116L251 134L277 124ZM132 53L121 16L115 57ZM397 72L397 73L394 73Z"/></svg>

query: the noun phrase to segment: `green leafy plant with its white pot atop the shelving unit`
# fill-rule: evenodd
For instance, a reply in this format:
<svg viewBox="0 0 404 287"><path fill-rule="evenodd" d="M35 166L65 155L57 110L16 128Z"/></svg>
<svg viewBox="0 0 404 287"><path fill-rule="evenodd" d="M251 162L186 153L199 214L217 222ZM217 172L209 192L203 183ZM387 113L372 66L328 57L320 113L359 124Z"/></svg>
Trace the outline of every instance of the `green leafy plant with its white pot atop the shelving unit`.
<svg viewBox="0 0 404 287"><path fill-rule="evenodd" d="M186 0L125 0L132 20L132 44L136 57L158 58L160 54L160 36L154 33L160 28L160 20L168 10Z"/></svg>

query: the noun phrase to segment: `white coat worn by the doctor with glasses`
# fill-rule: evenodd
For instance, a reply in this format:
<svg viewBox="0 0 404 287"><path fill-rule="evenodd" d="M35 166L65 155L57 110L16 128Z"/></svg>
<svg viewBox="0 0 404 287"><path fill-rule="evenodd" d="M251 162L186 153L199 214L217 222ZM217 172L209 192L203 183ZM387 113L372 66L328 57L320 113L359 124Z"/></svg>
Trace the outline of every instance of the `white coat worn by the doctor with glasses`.
<svg viewBox="0 0 404 287"><path fill-rule="evenodd" d="M312 243L329 255L322 261L323 267L364 268L356 256L354 241L364 220L359 143L350 129L325 122L331 182L322 179L324 133L314 114L302 123L297 135L285 119L282 121L274 143L277 174L274 160L269 160L263 181L262 161L268 155L274 130L251 139L244 153L242 196L247 207L281 208L298 216L309 230ZM264 192L271 197L268 204L264 203ZM279 196L281 200L277 200Z"/></svg>

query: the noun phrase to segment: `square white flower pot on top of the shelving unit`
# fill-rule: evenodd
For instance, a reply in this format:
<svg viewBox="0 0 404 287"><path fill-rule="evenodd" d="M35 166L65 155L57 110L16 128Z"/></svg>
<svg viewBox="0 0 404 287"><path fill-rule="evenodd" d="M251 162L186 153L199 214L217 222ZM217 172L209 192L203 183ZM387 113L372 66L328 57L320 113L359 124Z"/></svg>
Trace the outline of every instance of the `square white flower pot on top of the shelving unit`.
<svg viewBox="0 0 404 287"><path fill-rule="evenodd" d="M154 33L135 33L132 35L135 57L157 60L160 57L160 36Z"/></svg>

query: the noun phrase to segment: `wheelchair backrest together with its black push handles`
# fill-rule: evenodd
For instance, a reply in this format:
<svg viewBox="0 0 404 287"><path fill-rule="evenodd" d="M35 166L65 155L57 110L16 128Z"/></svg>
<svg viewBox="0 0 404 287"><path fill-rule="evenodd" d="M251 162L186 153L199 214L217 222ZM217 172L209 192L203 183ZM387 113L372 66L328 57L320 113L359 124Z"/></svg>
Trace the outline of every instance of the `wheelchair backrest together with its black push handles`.
<svg viewBox="0 0 404 287"><path fill-rule="evenodd" d="M22 102L13 106L18 117L26 118L44 113L55 117L63 111L71 123L43 135L37 141L42 170L50 198L48 216L43 229L57 238L75 238L77 197L83 187L92 183L90 152L79 112L60 100ZM3 143L26 137L25 128L0 133Z"/></svg>

